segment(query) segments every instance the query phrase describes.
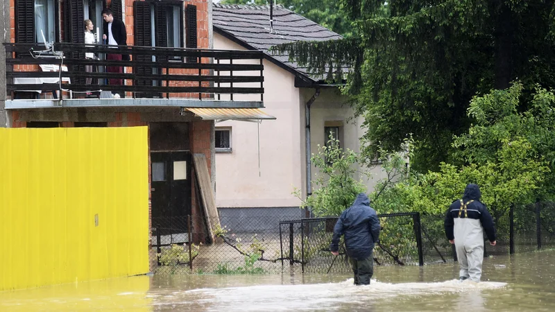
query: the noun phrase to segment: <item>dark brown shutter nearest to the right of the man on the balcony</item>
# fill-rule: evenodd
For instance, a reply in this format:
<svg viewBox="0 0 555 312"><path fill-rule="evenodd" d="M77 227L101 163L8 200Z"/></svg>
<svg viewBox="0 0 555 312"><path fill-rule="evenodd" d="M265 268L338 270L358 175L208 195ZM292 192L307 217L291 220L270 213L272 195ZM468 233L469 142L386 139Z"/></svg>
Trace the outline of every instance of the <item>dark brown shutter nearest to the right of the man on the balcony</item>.
<svg viewBox="0 0 555 312"><path fill-rule="evenodd" d="M135 12L135 46L152 46L151 33L151 3L146 1L135 1L133 3ZM148 55L134 55L133 60L148 62ZM136 75L146 76L152 74L151 67L135 66L133 72ZM135 85L152 85L150 80L135 80Z"/></svg>

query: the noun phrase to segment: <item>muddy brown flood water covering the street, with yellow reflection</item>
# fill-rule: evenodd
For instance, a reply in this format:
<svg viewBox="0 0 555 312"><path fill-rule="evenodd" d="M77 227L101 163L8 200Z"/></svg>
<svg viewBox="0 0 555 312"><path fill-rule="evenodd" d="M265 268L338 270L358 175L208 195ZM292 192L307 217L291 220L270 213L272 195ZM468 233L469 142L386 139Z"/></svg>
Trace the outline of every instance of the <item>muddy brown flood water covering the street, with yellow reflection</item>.
<svg viewBox="0 0 555 312"><path fill-rule="evenodd" d="M348 275L139 276L0 293L0 311L555 311L555 251L484 260L479 284L457 263Z"/></svg>

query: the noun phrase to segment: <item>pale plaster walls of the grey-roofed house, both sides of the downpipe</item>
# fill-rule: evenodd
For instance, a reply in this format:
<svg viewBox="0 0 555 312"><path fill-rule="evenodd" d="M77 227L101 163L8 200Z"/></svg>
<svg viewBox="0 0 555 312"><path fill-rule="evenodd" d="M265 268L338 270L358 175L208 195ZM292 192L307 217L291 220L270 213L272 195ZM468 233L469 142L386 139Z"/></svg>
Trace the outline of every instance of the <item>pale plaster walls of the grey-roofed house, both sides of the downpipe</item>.
<svg viewBox="0 0 555 312"><path fill-rule="evenodd" d="M214 49L245 50L217 33L214 33ZM252 86L258 87L258 84ZM315 91L296 88L292 73L264 60L264 111L277 119L260 124L245 121L216 123L216 130L219 127L232 129L232 153L216 153L217 207L300 205L300 200L291 192L296 187L306 196L305 103ZM229 100L229 97L222 95L221 99ZM234 100L259 101L260 98L258 95L235 95ZM311 107L311 153L317 153L318 144L324 144L325 121L343 121L343 147L358 153L359 138L364 134L361 129L364 119L349 119L353 114L338 89L321 89ZM314 179L314 166L311 175ZM382 175L381 168L375 168L372 178L358 173L355 178L362 179L370 192Z"/></svg>

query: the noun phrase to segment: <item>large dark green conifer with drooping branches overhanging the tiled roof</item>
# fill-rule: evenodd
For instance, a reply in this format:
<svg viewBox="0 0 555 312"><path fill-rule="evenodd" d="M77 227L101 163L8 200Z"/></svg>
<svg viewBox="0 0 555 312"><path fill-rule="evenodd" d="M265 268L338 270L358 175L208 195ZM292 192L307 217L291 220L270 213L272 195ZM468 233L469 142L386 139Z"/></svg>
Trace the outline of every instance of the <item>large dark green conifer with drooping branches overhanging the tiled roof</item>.
<svg viewBox="0 0 555 312"><path fill-rule="evenodd" d="M437 171L452 162L453 135L472 119L470 100L506 89L518 78L518 109L539 83L555 83L554 1L545 0L341 0L353 36L296 42L276 51L313 73L346 79L345 94L366 118L364 152L400 150L412 135L412 168ZM336 69L348 65L344 76Z"/></svg>

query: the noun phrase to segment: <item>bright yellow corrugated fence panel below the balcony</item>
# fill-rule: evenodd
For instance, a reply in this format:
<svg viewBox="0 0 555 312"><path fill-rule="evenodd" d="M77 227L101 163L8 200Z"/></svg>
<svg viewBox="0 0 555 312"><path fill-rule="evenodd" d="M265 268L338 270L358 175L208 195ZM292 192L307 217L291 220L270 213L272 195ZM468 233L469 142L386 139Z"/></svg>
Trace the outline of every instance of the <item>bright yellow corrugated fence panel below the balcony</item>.
<svg viewBox="0 0 555 312"><path fill-rule="evenodd" d="M0 129L0 291L148 272L146 127Z"/></svg>

